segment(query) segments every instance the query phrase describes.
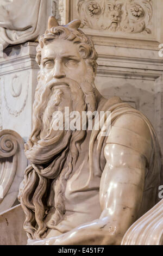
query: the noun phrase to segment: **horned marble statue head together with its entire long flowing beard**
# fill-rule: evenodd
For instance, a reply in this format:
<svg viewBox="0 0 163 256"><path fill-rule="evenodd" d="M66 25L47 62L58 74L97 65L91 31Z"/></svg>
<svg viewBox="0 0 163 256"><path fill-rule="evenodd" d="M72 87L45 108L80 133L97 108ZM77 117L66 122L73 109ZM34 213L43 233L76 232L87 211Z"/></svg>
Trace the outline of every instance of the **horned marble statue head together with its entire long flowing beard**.
<svg viewBox="0 0 163 256"><path fill-rule="evenodd" d="M45 223L46 212L55 209L54 225L64 215L64 183L78 160L86 130L54 130L55 112L95 111L94 84L97 53L92 41L74 20L59 26L54 17L39 40L36 61L40 66L33 105L33 131L25 145L32 167L25 172L21 204L26 212L24 227L31 238L41 237L53 225ZM54 192L55 187L55 192ZM58 199L54 202L54 194Z"/></svg>

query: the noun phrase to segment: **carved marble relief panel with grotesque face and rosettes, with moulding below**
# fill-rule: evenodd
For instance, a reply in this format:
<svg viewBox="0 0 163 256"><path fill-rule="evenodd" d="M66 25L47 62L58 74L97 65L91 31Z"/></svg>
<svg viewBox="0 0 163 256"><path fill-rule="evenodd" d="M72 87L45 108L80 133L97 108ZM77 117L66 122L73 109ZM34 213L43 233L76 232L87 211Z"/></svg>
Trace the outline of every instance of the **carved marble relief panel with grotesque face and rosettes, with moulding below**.
<svg viewBox="0 0 163 256"><path fill-rule="evenodd" d="M84 33L90 35L95 44L110 44L133 48L158 48L163 32L161 0L77 0L70 2L69 21L81 19ZM136 11L135 11L136 9Z"/></svg>

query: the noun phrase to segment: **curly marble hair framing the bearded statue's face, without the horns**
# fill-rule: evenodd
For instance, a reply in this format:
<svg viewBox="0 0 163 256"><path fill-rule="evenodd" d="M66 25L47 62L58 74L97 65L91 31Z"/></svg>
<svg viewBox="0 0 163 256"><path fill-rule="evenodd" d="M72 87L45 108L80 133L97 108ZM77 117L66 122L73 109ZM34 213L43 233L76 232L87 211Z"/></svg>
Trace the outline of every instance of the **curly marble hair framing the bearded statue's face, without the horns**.
<svg viewBox="0 0 163 256"><path fill-rule="evenodd" d="M97 52L93 45L92 40L85 35L80 29L71 29L66 26L53 27L47 29L45 34L39 39L39 45L36 48L36 62L38 65L41 64L41 48L47 45L48 42L52 42L55 39L63 39L72 41L74 44L78 44L79 53L85 59L87 64L92 67L94 74L96 75L97 70Z"/></svg>

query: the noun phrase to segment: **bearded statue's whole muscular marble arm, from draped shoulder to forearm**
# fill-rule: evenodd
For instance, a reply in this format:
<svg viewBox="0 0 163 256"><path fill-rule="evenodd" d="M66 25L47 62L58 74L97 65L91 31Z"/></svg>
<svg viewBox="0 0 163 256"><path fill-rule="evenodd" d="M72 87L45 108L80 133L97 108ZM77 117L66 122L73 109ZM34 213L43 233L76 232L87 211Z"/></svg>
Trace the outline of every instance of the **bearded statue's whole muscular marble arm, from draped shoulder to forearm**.
<svg viewBox="0 0 163 256"><path fill-rule="evenodd" d="M143 196L147 156L151 150L151 135L145 122L133 114L118 118L114 127L115 130L122 129L119 130L122 133L127 132L132 141L134 139L132 136L136 136L136 150L133 149L134 143L129 143L129 138L128 142L122 139L120 144L121 137L117 137L116 141L114 133L109 136L104 149L106 165L99 193L101 216L98 220L84 223L63 235L46 239L42 241L44 244L118 245L124 233L136 220ZM139 142L141 137L145 141ZM138 146L139 143L144 145L139 149L136 143Z"/></svg>

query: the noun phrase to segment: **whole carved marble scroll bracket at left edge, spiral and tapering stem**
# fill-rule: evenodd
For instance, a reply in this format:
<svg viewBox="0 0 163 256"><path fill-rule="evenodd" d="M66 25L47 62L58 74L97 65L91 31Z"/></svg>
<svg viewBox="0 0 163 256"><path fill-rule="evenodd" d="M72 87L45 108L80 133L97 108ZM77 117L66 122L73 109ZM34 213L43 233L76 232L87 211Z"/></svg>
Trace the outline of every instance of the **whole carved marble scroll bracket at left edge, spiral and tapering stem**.
<svg viewBox="0 0 163 256"><path fill-rule="evenodd" d="M11 130L0 131L0 212L14 205L26 167L21 136Z"/></svg>

